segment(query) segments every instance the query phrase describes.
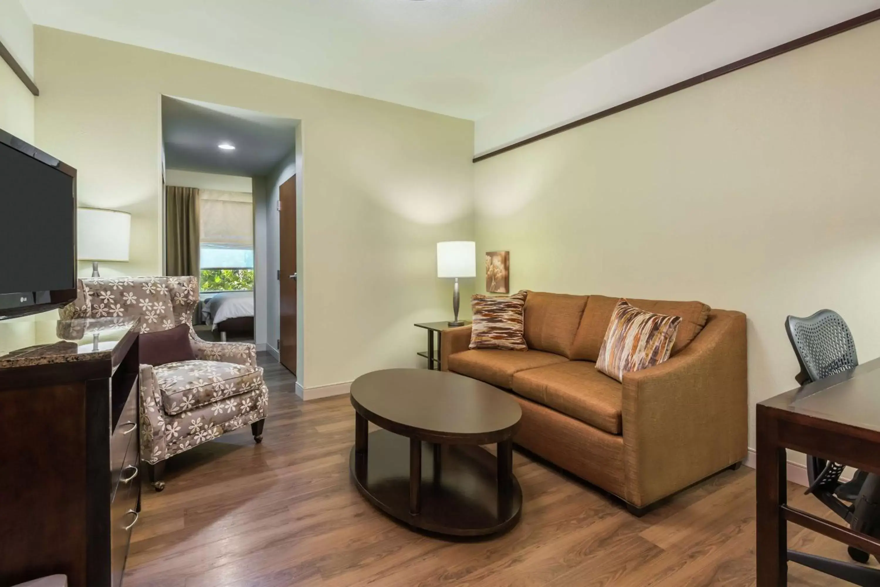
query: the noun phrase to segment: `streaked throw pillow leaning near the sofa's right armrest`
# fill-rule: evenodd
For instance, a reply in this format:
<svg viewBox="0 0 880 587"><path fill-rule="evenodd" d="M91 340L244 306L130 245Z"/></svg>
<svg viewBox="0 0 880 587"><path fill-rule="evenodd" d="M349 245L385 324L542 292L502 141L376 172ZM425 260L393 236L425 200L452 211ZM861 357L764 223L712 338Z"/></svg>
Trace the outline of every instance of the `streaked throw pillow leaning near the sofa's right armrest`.
<svg viewBox="0 0 880 587"><path fill-rule="evenodd" d="M621 299L605 331L596 369L622 382L624 373L663 363L680 324L678 316L645 312Z"/></svg>

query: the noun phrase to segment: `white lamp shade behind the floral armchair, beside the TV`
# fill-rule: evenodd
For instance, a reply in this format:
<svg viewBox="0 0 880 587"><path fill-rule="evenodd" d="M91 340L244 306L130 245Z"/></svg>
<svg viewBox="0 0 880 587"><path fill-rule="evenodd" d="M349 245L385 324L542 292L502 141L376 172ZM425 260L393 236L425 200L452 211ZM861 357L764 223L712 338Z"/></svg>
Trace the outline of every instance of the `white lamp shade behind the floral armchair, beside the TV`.
<svg viewBox="0 0 880 587"><path fill-rule="evenodd" d="M95 208L77 209L77 258L128 260L131 215Z"/></svg>

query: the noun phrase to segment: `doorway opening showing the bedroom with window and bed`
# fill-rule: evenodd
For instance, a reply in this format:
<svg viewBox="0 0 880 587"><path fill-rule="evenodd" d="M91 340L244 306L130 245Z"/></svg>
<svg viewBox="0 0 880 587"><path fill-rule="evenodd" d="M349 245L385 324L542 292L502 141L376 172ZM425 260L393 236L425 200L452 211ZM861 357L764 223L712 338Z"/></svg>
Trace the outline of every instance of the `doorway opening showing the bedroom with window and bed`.
<svg viewBox="0 0 880 587"><path fill-rule="evenodd" d="M165 275L198 277L196 334L253 342L294 374L298 124L162 97Z"/></svg>

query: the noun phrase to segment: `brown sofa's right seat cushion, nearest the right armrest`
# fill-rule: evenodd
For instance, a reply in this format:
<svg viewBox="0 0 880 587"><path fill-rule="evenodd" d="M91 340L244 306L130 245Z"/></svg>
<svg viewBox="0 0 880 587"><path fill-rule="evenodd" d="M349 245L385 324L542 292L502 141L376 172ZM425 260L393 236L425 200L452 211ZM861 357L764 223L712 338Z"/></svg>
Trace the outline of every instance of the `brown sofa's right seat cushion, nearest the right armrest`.
<svg viewBox="0 0 880 587"><path fill-rule="evenodd" d="M519 371L513 376L513 391L609 434L620 434L623 385L596 371L596 363L568 361Z"/></svg>

